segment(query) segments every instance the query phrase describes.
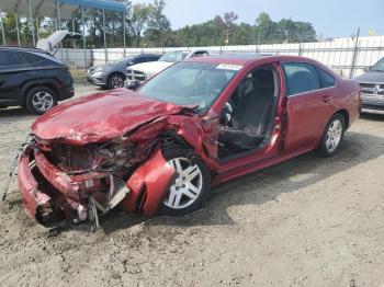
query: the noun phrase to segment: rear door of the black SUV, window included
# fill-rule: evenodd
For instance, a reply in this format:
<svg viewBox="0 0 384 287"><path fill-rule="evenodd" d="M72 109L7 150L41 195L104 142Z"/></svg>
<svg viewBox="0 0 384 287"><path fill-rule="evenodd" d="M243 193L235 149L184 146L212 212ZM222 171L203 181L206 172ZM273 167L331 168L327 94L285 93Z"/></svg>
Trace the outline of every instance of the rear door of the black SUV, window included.
<svg viewBox="0 0 384 287"><path fill-rule="evenodd" d="M0 104L19 104L20 88L32 74L20 51L0 50Z"/></svg>

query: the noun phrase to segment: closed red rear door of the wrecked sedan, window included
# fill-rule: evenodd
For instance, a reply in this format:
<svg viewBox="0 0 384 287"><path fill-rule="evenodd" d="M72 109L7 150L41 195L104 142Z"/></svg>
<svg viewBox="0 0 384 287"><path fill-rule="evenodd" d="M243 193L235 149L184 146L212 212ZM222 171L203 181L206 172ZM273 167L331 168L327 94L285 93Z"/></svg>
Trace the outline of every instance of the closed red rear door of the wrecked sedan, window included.
<svg viewBox="0 0 384 287"><path fill-rule="evenodd" d="M331 97L317 68L307 62L283 62L285 78L284 150L294 151L317 144L331 116Z"/></svg>

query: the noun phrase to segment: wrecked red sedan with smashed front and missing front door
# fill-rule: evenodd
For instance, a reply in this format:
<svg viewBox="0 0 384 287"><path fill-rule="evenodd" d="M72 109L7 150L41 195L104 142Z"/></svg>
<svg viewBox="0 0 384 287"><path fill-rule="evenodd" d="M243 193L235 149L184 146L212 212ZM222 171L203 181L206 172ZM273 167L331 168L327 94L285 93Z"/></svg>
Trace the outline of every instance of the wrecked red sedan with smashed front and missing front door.
<svg viewBox="0 0 384 287"><path fill-rule="evenodd" d="M184 215L213 185L334 154L360 105L358 83L310 59L193 58L41 116L19 160L23 202L44 226L98 223L113 208Z"/></svg>

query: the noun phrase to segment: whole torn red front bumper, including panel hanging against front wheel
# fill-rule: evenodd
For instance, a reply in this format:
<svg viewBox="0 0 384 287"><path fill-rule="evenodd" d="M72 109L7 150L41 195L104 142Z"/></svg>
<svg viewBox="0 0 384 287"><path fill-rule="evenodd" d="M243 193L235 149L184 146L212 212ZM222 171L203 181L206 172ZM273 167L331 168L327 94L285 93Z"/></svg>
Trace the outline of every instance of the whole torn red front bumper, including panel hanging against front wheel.
<svg viewBox="0 0 384 287"><path fill-rule="evenodd" d="M127 181L101 172L68 175L33 145L24 149L19 160L19 186L24 207L30 217L46 227L64 220L79 222L92 218L90 203L94 202L102 214L120 206L127 213L154 216L173 179L174 169L167 163L160 149Z"/></svg>

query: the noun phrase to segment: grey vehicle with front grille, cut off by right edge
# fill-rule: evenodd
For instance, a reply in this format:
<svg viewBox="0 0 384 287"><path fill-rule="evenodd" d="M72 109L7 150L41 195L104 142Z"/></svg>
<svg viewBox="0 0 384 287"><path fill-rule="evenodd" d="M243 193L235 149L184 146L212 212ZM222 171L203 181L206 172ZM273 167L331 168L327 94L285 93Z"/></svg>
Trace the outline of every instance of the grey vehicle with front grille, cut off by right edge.
<svg viewBox="0 0 384 287"><path fill-rule="evenodd" d="M355 78L362 92L362 112L384 115L384 58Z"/></svg>

